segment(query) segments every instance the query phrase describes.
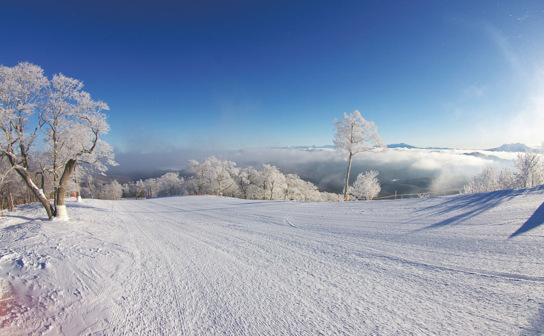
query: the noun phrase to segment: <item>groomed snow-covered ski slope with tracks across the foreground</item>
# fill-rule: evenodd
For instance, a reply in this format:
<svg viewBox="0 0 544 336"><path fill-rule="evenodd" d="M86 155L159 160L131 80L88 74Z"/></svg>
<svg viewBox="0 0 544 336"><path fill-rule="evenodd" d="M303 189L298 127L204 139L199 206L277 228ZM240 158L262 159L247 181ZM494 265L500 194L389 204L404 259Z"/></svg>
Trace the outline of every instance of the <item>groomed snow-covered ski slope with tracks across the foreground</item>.
<svg viewBox="0 0 544 336"><path fill-rule="evenodd" d="M544 186L67 207L70 221L38 205L0 219L0 334L544 333Z"/></svg>

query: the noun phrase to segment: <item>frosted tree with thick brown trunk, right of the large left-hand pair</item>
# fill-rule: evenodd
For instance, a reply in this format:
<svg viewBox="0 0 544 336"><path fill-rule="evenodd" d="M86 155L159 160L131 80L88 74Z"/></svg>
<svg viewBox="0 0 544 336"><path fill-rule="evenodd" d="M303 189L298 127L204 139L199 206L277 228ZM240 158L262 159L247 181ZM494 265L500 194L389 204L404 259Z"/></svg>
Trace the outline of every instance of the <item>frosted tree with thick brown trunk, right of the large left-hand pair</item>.
<svg viewBox="0 0 544 336"><path fill-rule="evenodd" d="M54 75L39 105L40 129L53 174L54 204L64 206L66 185L78 163L104 171L115 166L112 147L99 136L109 131L106 103L92 100L83 83L63 74Z"/></svg>

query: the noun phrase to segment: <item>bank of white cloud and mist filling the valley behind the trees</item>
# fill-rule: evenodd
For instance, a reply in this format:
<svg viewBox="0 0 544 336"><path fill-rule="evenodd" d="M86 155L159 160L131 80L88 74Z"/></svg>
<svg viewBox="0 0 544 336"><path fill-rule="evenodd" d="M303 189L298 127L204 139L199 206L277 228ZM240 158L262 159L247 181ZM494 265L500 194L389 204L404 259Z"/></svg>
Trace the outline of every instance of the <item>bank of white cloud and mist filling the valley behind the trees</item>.
<svg viewBox="0 0 544 336"><path fill-rule="evenodd" d="M472 155L466 155L472 154ZM222 156L236 162L237 167L262 167L272 164L284 174L296 173L303 179L311 180L319 187L341 189L347 162L334 149L282 149L248 148L229 151L180 150L171 153L122 154L118 156L118 167L108 175L127 175L139 180L160 176L165 170L183 170L187 161L200 161L208 156ZM491 152L483 150L431 150L394 148L386 153L360 153L354 156L351 178L368 170L378 170L380 182L434 177L435 190L451 189L466 179L481 172L485 166L512 168L516 153ZM464 176L464 177L463 177ZM350 179L351 180L351 179ZM457 188L456 187L456 188Z"/></svg>

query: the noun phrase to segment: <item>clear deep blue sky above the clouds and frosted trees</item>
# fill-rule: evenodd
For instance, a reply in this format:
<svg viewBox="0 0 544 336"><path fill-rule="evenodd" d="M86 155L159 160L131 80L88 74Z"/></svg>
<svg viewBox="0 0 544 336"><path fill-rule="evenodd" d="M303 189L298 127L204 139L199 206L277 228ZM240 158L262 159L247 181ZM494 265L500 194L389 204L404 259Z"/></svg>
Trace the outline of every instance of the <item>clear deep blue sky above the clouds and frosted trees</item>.
<svg viewBox="0 0 544 336"><path fill-rule="evenodd" d="M110 106L116 152L332 144L361 111L386 143L544 140L540 1L13 1L0 63Z"/></svg>

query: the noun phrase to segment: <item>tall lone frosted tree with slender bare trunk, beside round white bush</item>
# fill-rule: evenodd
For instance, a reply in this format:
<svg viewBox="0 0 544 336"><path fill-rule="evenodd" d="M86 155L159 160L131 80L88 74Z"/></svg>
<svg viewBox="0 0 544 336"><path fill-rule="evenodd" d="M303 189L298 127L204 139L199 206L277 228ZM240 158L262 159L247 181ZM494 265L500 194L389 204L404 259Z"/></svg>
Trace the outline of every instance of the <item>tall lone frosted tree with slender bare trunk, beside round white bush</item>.
<svg viewBox="0 0 544 336"><path fill-rule="evenodd" d="M357 110L350 115L344 113L341 120L334 120L334 125L336 127L333 139L335 149L341 151L342 158L348 161L344 183L344 200L348 201L349 171L353 156L363 151L386 151L387 146L378 135L378 128L374 122L366 121Z"/></svg>

